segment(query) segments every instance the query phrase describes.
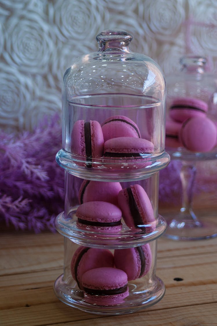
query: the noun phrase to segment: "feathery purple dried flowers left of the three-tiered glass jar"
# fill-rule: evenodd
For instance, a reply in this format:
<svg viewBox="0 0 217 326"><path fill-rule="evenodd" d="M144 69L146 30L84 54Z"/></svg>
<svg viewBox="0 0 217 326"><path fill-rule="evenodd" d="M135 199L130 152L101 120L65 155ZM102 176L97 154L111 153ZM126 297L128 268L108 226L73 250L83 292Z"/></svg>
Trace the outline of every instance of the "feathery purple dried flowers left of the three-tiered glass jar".
<svg viewBox="0 0 217 326"><path fill-rule="evenodd" d="M57 114L33 132L0 133L0 222L17 230L54 231L64 206L64 170L55 161L60 148Z"/></svg>

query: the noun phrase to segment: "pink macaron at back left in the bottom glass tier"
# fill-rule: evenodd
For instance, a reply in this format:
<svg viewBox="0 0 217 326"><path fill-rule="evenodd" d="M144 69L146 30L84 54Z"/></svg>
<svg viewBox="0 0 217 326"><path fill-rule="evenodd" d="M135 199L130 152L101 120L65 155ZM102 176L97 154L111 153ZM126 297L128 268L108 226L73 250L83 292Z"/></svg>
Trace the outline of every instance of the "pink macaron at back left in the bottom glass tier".
<svg viewBox="0 0 217 326"><path fill-rule="evenodd" d="M71 261L71 273L80 289L82 275L90 269L98 267L114 267L114 256L108 249L80 246Z"/></svg>

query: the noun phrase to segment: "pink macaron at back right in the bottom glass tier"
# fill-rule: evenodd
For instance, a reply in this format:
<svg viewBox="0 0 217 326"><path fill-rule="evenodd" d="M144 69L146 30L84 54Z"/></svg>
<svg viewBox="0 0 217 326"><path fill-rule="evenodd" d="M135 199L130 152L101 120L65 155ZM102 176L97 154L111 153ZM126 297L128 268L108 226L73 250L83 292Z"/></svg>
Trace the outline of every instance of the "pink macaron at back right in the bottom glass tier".
<svg viewBox="0 0 217 326"><path fill-rule="evenodd" d="M123 270L128 281L146 275L152 264L152 254L149 244L135 248L115 249L115 267Z"/></svg>

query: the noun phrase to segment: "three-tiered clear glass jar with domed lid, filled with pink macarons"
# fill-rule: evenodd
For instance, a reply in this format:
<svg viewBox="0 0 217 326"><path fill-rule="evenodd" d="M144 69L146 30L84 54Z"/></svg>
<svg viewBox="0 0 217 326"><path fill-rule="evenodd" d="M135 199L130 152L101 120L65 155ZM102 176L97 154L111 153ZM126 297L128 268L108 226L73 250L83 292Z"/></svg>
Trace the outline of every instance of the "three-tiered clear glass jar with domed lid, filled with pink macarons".
<svg viewBox="0 0 217 326"><path fill-rule="evenodd" d="M54 284L64 303L95 314L132 313L164 295L156 276L159 170L165 152L166 85L160 67L131 52L132 36L106 30L98 52L63 77L64 271Z"/></svg>

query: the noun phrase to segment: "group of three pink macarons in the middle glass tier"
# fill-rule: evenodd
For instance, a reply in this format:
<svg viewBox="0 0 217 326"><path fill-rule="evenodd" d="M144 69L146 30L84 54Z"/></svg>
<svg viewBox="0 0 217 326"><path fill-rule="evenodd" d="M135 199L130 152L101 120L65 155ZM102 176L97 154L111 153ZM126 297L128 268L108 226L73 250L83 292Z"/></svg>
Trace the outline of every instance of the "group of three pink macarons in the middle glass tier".
<svg viewBox="0 0 217 326"><path fill-rule="evenodd" d="M153 231L155 216L151 201L139 184L122 189L119 182L84 180L79 189L77 226L82 230L117 233L121 219L132 230Z"/></svg>

